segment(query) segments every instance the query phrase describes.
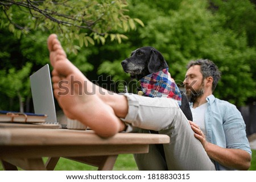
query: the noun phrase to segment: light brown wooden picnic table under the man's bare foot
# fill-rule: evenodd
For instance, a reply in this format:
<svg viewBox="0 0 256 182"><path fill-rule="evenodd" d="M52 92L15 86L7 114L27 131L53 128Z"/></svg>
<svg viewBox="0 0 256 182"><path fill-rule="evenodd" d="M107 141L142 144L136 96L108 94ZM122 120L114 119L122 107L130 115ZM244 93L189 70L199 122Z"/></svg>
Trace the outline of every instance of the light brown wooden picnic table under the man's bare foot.
<svg viewBox="0 0 256 182"><path fill-rule="evenodd" d="M13 127L11 127L11 126ZM118 133L101 138L92 130L15 127L0 123L0 160L5 170L53 170L60 157L112 170L118 154L147 153L150 144L169 143L161 134ZM44 164L43 157L48 157Z"/></svg>

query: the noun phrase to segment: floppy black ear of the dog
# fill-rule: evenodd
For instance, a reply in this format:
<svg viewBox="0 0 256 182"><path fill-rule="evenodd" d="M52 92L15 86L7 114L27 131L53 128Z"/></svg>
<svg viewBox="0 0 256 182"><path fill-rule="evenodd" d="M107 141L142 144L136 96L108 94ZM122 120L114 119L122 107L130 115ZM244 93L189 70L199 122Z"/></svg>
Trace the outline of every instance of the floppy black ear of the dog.
<svg viewBox="0 0 256 182"><path fill-rule="evenodd" d="M168 65L166 60L164 60L163 55L156 49L151 49L150 60L147 64L148 71L150 73L155 73L167 67Z"/></svg>

